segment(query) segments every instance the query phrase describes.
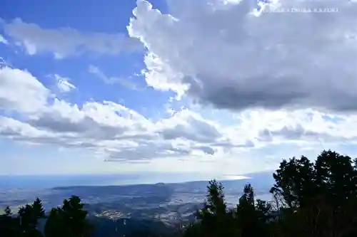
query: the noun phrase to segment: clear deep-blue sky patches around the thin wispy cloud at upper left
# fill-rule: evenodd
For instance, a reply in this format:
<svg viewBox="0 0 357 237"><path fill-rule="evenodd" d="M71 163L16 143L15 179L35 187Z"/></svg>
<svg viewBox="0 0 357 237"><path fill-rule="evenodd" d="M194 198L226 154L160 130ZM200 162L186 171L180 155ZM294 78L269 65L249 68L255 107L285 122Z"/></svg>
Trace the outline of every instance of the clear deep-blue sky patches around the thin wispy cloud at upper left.
<svg viewBox="0 0 357 237"><path fill-rule="evenodd" d="M156 1L156 4L160 9L165 9L166 5L163 1ZM41 28L47 29L66 27L74 28L82 33L127 35L126 26L132 15L131 11L136 6L136 1L106 1L104 4L99 1L76 1L75 3L72 1L31 1L31 4L23 4L21 1L18 3L5 1L3 5L5 7L1 8L0 15L4 21L19 18L26 23L36 23ZM139 96L136 90L127 90L128 88L120 85L113 87L104 84L96 75L91 75L88 68L89 65L95 65L108 77L129 78L132 76L135 83L144 88L146 86L144 78L135 76L144 68L141 60L144 52L144 47L142 47L133 52L123 52L114 56L86 53L80 59L74 57L56 60L48 51L33 57L16 53L11 47L1 47L1 54L6 55L4 58L9 58L9 63L16 65L17 68L26 68L31 71L33 75L41 78L46 86L54 84L54 80L46 78L46 75L60 74L75 78L76 87L83 93L70 95L68 99L71 102L81 104L91 98L116 102L120 100L125 105L134 107L135 110L140 110L142 107L161 107L171 94L155 93L149 88L146 93L140 93Z"/></svg>

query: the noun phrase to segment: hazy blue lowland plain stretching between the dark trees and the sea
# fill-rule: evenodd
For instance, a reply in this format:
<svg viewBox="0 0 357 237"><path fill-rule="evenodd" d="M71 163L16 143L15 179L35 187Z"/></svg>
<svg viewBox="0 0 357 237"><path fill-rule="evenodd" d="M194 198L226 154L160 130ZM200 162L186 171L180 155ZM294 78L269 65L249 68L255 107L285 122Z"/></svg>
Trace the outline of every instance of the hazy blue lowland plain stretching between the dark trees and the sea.
<svg viewBox="0 0 357 237"><path fill-rule="evenodd" d="M268 193L273 185L271 172L245 176L249 179L221 180L228 205L237 204L243 186L247 183L253 185L257 198L271 199ZM16 207L30 203L38 196L43 201L46 211L49 211L52 207L60 206L64 199L76 195L86 203L85 208L89 211L90 217L96 223L99 222L99 225L112 225L112 219L131 219L140 220L140 223L154 221L154 225L159 221L159 225L171 226L192 219L193 212L201 208L206 198L207 185L208 180L169 184L160 182L121 186L6 189L0 192L0 206L9 205L16 211Z"/></svg>

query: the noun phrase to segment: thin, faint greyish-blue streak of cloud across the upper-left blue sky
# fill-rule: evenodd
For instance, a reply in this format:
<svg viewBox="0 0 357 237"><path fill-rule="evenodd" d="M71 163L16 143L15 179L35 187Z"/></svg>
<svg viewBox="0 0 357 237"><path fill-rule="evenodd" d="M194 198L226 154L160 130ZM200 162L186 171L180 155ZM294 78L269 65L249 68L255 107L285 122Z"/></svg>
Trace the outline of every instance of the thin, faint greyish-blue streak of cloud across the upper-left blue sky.
<svg viewBox="0 0 357 237"><path fill-rule="evenodd" d="M23 46L27 53L49 52L56 58L79 55L85 52L116 55L122 51L135 51L141 48L138 41L124 34L81 33L73 28L41 28L35 23L21 19L4 22L4 32Z"/></svg>

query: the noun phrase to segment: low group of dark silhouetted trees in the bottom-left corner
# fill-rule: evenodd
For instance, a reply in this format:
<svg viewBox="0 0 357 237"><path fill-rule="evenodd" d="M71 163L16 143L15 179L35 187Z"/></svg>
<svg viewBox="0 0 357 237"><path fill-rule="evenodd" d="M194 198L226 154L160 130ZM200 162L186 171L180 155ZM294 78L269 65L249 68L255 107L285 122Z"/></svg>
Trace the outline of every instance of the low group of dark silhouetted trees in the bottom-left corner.
<svg viewBox="0 0 357 237"><path fill-rule="evenodd" d="M46 221L45 234L58 237L87 237L91 225L86 220L87 212L78 196L64 200L62 208L52 209ZM17 216L11 216L11 209L6 207L0 216L0 236L6 237L42 237L38 221L46 218L41 200L26 204L19 209Z"/></svg>

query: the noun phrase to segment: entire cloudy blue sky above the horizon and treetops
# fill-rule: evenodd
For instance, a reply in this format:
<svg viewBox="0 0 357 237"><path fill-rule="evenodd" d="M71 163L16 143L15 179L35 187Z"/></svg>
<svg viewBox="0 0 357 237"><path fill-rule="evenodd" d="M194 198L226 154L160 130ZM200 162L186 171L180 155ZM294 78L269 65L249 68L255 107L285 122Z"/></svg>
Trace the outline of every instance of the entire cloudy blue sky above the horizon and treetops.
<svg viewBox="0 0 357 237"><path fill-rule="evenodd" d="M0 174L231 176L357 155L356 2L0 5Z"/></svg>

